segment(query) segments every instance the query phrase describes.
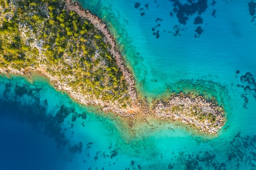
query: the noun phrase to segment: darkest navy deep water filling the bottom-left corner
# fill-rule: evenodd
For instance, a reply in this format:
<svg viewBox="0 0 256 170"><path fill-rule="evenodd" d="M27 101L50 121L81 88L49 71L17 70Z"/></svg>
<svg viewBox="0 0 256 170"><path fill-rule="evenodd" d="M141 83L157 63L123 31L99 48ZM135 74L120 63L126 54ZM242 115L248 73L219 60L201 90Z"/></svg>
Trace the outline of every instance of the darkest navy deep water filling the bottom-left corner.
<svg viewBox="0 0 256 170"><path fill-rule="evenodd" d="M1 111L9 113L9 109ZM31 124L7 117L1 117L0 121L1 169L54 170L65 165L56 142L35 130Z"/></svg>

